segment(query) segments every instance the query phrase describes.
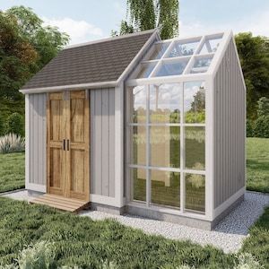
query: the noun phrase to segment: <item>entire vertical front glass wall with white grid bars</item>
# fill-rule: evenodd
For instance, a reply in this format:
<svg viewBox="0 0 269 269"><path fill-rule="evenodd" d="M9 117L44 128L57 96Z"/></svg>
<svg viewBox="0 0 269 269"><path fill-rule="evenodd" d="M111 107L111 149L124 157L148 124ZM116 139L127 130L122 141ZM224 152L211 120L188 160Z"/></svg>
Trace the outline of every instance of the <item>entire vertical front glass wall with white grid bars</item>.
<svg viewBox="0 0 269 269"><path fill-rule="evenodd" d="M130 95L132 199L204 213L204 82L137 86Z"/></svg>

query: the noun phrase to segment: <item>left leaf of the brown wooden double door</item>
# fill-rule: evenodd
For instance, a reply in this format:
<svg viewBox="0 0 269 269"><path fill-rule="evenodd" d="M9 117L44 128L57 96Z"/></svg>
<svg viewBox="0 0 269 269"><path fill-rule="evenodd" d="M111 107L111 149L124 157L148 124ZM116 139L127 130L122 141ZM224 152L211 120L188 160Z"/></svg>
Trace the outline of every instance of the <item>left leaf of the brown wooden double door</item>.
<svg viewBox="0 0 269 269"><path fill-rule="evenodd" d="M65 92L49 93L47 97L47 192L65 193Z"/></svg>

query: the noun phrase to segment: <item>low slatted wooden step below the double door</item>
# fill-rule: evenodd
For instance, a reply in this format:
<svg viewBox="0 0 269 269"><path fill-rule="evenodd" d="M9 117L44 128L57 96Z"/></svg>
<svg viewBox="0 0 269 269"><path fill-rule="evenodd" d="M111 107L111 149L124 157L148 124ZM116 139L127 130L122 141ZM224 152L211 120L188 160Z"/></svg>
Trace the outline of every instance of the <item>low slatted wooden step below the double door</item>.
<svg viewBox="0 0 269 269"><path fill-rule="evenodd" d="M85 208L89 202L77 200L74 198L66 198L59 195L46 194L34 198L30 201L30 204L44 204L63 211L77 213Z"/></svg>

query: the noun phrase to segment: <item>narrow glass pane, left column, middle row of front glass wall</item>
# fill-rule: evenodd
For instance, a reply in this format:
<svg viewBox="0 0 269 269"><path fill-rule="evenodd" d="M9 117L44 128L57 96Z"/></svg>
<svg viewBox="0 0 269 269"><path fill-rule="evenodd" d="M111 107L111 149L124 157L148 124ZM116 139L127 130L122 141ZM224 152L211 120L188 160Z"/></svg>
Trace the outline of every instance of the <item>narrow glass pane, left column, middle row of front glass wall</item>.
<svg viewBox="0 0 269 269"><path fill-rule="evenodd" d="M146 127L133 126L133 164L146 164Z"/></svg>

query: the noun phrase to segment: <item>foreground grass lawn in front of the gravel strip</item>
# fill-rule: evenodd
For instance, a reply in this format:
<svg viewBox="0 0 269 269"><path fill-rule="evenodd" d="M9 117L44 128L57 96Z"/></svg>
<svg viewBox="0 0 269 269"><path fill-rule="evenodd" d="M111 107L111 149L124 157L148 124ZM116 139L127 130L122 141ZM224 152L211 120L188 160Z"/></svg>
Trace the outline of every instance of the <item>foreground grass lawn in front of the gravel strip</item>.
<svg viewBox="0 0 269 269"><path fill-rule="evenodd" d="M55 243L56 266L104 268L100 267L102 261L108 261L119 268L233 268L238 263L237 256L217 248L145 235L117 221L91 221L88 217L8 198L0 198L0 208L0 265L16 263L20 250L40 240ZM268 216L269 209L243 247L266 268Z"/></svg>

